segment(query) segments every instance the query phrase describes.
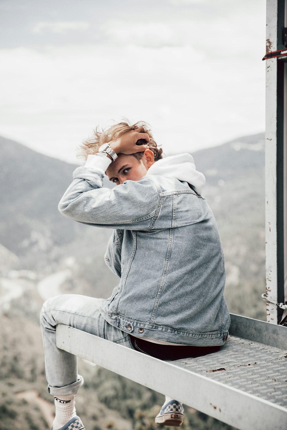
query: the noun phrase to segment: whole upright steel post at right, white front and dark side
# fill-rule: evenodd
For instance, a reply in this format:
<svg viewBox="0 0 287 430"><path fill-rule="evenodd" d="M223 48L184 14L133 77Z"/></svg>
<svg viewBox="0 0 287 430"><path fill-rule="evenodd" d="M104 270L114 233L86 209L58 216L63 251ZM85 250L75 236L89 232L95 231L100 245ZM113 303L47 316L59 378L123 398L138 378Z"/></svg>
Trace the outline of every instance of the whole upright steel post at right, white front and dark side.
<svg viewBox="0 0 287 430"><path fill-rule="evenodd" d="M266 52L284 48L283 28L286 0L267 0ZM266 61L265 133L265 251L266 298L278 303L284 298L284 73L283 61ZM286 142L285 142L286 143ZM286 206L286 203L285 203ZM286 210L286 209L285 209ZM286 263L285 263L286 267ZM283 310L267 303L267 321L278 324Z"/></svg>

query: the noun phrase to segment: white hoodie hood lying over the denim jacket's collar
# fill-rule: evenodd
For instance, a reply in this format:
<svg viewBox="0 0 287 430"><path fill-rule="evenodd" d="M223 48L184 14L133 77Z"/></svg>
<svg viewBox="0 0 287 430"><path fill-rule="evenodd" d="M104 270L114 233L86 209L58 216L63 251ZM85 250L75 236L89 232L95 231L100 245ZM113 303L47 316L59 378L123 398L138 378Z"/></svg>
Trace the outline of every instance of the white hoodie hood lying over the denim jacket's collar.
<svg viewBox="0 0 287 430"><path fill-rule="evenodd" d="M195 169L193 157L188 153L171 155L158 160L148 169L146 174L186 181L197 194L202 193L205 185L205 176Z"/></svg>

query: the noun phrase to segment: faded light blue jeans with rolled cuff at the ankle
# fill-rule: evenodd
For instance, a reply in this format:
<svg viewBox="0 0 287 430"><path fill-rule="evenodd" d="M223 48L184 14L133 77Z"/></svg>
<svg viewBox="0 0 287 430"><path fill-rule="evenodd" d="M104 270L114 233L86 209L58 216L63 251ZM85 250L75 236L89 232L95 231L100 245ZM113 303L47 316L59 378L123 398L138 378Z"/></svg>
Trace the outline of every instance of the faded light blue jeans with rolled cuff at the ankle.
<svg viewBox="0 0 287 430"><path fill-rule="evenodd" d="M102 317L97 301L84 295L64 294L49 298L43 304L40 325L50 394L76 394L83 384L82 376L78 375L77 356L56 347L57 324L65 324L134 349L129 335L111 326Z"/></svg>

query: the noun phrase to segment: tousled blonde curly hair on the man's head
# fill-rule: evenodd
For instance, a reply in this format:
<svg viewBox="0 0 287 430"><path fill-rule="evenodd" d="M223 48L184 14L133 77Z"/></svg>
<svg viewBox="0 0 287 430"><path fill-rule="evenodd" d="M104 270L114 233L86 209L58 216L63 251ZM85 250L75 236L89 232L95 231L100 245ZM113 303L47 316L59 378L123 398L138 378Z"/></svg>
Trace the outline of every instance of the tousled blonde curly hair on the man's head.
<svg viewBox="0 0 287 430"><path fill-rule="evenodd" d="M77 158L87 159L89 154L95 154L99 147L104 144L111 142L112 140L117 140L121 135L131 131L136 130L138 128L142 129L143 133L147 133L150 138L150 142L146 142L148 144L149 149L154 153L154 161L160 160L162 158L163 150L157 147L157 144L151 134L150 125L145 123L144 121L138 121L135 124L130 124L130 121L126 119L127 122L117 123L114 126L111 126L107 130L102 129L102 131L97 126L94 130L94 134L92 137L83 141L80 147L77 148ZM138 160L142 159L142 152L136 152L135 154L131 154L136 157Z"/></svg>

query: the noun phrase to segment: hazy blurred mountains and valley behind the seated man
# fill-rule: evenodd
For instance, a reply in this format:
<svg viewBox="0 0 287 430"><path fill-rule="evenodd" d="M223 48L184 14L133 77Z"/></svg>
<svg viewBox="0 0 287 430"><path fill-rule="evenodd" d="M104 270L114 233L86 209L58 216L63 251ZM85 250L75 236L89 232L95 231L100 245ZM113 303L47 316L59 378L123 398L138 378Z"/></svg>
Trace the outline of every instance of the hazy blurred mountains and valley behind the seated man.
<svg viewBox="0 0 287 430"><path fill-rule="evenodd" d="M206 176L202 194L222 240L229 311L265 320L264 135L192 155ZM0 138L0 429L49 428L52 399L39 327L43 301L63 293L105 298L118 283L104 262L111 230L58 212L76 167ZM105 178L104 186L113 185ZM87 428L154 428L160 394L82 360L79 366L86 383L77 411ZM231 430L192 408L186 408L186 423L187 430Z"/></svg>

